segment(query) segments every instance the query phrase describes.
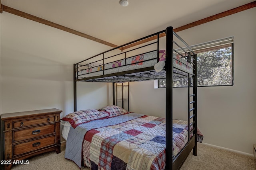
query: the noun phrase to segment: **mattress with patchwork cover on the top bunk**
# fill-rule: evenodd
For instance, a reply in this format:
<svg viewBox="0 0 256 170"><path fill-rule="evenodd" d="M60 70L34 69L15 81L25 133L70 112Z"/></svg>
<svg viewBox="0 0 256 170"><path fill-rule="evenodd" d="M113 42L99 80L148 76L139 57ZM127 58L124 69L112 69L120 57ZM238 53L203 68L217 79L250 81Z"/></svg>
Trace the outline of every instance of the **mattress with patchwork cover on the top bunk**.
<svg viewBox="0 0 256 170"><path fill-rule="evenodd" d="M165 50L160 50L164 51ZM163 53L159 55L159 58L163 58ZM188 63L186 59L179 57L178 55L173 54L173 66L174 66L174 72L180 72L180 70L193 73L193 66L192 64ZM165 53L164 53L164 59L165 59ZM92 76L101 76L101 75L107 75L117 72L123 72L128 70L136 70L139 68L146 68L151 67L157 64L157 51L153 51L150 53L145 53L142 55L129 57L127 59L122 59L119 61L115 61L108 64L102 64L102 63L93 63L93 67L79 71L78 72L78 79L80 78L88 78ZM104 72L103 72L104 70ZM77 75L76 75L77 77Z"/></svg>

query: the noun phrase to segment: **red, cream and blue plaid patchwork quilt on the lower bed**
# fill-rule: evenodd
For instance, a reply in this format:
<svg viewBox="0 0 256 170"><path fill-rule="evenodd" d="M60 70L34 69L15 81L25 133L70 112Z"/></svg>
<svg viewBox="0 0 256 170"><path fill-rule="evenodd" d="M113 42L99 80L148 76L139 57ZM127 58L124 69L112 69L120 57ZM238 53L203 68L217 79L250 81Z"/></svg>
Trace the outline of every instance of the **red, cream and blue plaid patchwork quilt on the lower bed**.
<svg viewBox="0 0 256 170"><path fill-rule="evenodd" d="M120 115L122 116L122 115ZM165 167L165 119L144 115L91 129L84 136L84 164L96 169L152 170ZM188 141L186 121L173 123L173 158Z"/></svg>

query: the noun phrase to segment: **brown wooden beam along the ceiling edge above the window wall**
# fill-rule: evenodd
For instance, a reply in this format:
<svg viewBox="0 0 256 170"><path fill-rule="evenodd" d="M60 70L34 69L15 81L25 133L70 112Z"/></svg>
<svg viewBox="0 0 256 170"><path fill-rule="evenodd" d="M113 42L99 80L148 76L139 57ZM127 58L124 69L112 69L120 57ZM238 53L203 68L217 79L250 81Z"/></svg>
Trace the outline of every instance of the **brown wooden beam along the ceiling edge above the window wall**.
<svg viewBox="0 0 256 170"><path fill-rule="evenodd" d="M231 10L228 10L228 11L225 11L225 12L221 12L219 14L216 14L216 15L213 15L213 16L210 16L210 17L207 17L207 18L204 18L202 20L198 20L198 21L195 21L195 22L192 22L192 23L189 23L189 24L186 24L186 25L183 25L181 27L178 27L178 28L175 28L173 29L174 32L178 32L178 31L183 31L185 29L188 29L188 28L192 28L192 27L195 27L195 26L198 26L198 25L201 25L203 23L207 23L207 22L210 22L210 21L213 21L213 20L217 20L217 19L220 19L220 18L223 18L223 17L226 17L226 16L229 16L229 15L232 15L232 14L236 14L238 12L241 12L241 11L244 11L244 10L248 10L250 8L254 8L256 7L256 1L254 2L250 2L248 4L245 4L245 5L242 5L242 6L239 6L237 8L233 8ZM159 35L159 37L164 37L165 36L165 33L161 33ZM154 39L157 39L157 35L153 36L153 37L149 37L147 39L143 39L142 41L138 41L136 43L132 43L130 45L126 45L124 47L122 47L122 50L125 50L125 49L128 49L130 47L134 47L136 45L140 45L140 44L143 44L143 43L146 43L148 41L152 41Z"/></svg>

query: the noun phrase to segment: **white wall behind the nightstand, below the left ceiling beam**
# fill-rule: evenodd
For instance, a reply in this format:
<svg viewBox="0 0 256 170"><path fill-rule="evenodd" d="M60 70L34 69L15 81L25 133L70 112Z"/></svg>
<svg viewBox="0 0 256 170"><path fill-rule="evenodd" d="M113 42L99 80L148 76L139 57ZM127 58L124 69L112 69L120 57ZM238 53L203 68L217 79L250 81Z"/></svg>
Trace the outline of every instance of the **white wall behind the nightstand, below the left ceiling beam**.
<svg viewBox="0 0 256 170"><path fill-rule="evenodd" d="M72 112L73 63L110 47L7 12L0 17L0 114L57 108L63 117ZM108 88L107 83L78 83L78 109L106 106Z"/></svg>

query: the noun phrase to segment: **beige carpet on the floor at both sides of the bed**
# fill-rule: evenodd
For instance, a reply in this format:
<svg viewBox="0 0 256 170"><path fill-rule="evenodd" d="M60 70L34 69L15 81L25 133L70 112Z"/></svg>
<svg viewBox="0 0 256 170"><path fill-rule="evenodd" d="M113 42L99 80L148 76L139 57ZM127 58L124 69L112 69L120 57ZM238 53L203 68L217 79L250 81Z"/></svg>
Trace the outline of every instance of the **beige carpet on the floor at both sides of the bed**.
<svg viewBox="0 0 256 170"><path fill-rule="evenodd" d="M64 158L65 143L61 153L48 152L34 156L29 164L13 165L12 170L79 170L71 160ZM82 170L89 168L82 167ZM181 170L256 170L256 160L252 156L230 152L198 143L197 156L192 152L186 159Z"/></svg>

